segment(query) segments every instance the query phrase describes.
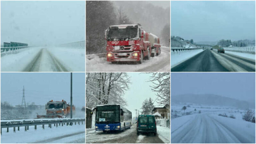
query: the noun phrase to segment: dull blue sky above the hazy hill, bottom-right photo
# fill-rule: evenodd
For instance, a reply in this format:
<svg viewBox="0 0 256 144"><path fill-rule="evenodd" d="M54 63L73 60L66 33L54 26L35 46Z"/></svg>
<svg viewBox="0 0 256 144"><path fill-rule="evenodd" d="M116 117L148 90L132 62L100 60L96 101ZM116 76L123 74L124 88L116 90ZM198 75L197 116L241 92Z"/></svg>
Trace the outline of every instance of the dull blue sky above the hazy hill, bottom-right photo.
<svg viewBox="0 0 256 144"><path fill-rule="evenodd" d="M172 73L171 95L216 94L255 102L255 73Z"/></svg>

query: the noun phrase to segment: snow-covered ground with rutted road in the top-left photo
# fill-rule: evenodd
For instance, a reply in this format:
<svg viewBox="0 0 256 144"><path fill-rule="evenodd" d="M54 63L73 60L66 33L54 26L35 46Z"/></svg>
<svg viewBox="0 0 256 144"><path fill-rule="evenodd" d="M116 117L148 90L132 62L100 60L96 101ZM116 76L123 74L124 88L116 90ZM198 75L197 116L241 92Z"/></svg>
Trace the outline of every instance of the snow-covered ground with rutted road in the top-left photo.
<svg viewBox="0 0 256 144"><path fill-rule="evenodd" d="M1 57L1 71L56 71L56 63L67 71L85 70L85 50L59 47L30 47Z"/></svg>

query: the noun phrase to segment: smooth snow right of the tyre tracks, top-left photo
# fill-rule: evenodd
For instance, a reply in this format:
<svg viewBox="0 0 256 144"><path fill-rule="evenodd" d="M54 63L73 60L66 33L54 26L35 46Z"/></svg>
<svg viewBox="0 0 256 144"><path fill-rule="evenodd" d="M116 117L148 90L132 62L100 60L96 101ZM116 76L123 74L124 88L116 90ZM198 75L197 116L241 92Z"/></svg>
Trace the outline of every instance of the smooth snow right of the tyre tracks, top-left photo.
<svg viewBox="0 0 256 144"><path fill-rule="evenodd" d="M85 49L81 48L47 48L69 71L85 71Z"/></svg>

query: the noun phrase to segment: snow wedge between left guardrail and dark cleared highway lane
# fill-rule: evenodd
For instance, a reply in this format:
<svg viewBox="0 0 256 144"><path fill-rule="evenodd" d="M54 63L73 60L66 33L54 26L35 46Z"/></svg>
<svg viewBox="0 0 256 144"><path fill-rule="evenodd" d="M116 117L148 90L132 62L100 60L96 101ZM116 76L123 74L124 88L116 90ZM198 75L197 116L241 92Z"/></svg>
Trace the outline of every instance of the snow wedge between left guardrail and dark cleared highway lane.
<svg viewBox="0 0 256 144"><path fill-rule="evenodd" d="M204 51L203 49L171 51L171 68Z"/></svg>

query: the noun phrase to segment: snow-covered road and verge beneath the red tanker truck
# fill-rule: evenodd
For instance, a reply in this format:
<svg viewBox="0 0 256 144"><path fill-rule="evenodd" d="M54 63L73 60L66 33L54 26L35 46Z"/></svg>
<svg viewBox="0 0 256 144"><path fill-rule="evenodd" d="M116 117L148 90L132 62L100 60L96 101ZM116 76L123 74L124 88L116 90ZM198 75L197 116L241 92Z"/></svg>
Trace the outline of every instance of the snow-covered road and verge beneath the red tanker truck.
<svg viewBox="0 0 256 144"><path fill-rule="evenodd" d="M92 58L93 57L93 58ZM91 59L92 58L92 59ZM161 54L144 60L142 64L111 64L106 57L90 55L86 57L87 72L169 72L170 71L170 48L161 47Z"/></svg>

